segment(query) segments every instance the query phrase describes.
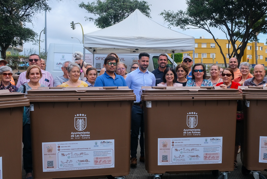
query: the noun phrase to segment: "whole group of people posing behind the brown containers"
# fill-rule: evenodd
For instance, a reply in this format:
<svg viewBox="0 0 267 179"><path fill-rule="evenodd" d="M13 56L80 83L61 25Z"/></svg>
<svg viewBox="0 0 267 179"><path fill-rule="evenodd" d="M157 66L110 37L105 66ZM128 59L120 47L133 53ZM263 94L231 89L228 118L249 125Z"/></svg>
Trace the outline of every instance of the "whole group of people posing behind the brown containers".
<svg viewBox="0 0 267 179"><path fill-rule="evenodd" d="M210 67L210 79L206 79L206 68L203 64L195 64L190 56L185 56L181 64L174 70L168 65L168 56L160 54L158 56L158 68L150 72L150 55L140 53L138 62L133 62L130 72L127 74L127 66L120 62L115 53L110 53L104 60L104 68L101 69L97 77L97 70L92 65L84 63L82 60L75 62L65 61L62 64L62 76L53 78L45 71L45 61L39 55L29 56L29 67L27 71L20 74L15 86L12 78L12 69L6 66L7 61L0 60L0 90L10 92L26 93L28 90L38 87L110 87L128 86L136 95L136 104L132 107L131 113L131 166L137 165L137 146L140 134L140 158L144 162L144 118L141 104L142 86L220 86L221 88L235 88L238 86L260 86L266 85L267 77L262 65L254 68L254 77L249 73L250 64L242 62L237 68L236 58L229 59L229 68L223 69L218 65ZM82 65L82 66L81 66ZM31 162L31 130L29 108L24 108L23 114L23 161L26 170L26 178L32 178Z"/></svg>

